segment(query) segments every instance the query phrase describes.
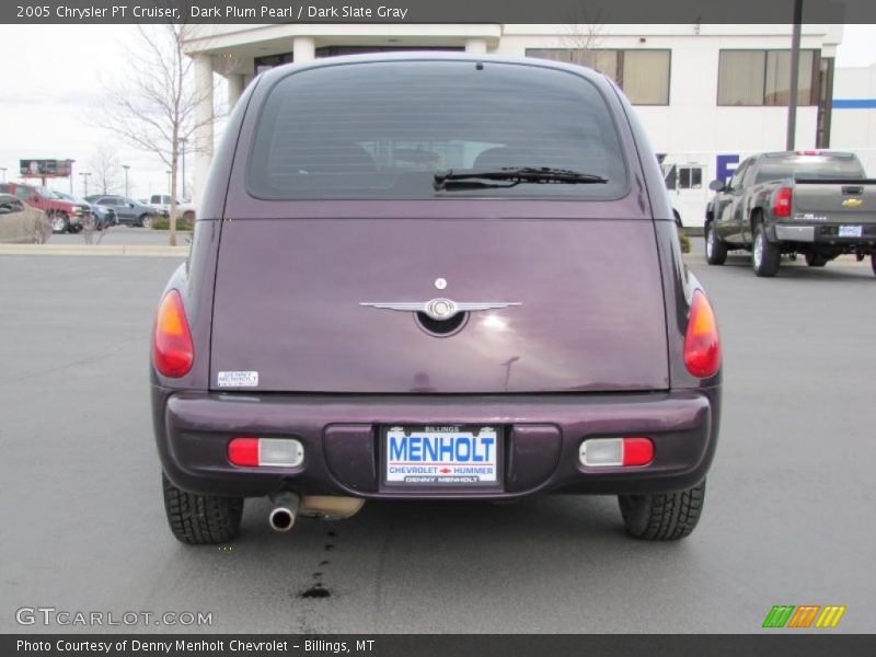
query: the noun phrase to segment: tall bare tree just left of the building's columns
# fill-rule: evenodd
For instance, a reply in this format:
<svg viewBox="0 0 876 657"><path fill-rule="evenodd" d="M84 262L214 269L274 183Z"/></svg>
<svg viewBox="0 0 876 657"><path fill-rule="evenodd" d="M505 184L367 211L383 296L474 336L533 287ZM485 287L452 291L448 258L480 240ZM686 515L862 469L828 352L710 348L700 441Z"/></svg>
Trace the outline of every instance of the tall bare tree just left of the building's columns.
<svg viewBox="0 0 876 657"><path fill-rule="evenodd" d="M171 172L170 244L176 245L177 169L183 141L194 145L196 107L207 101L194 84L194 62L184 44L198 26L137 25L139 38L128 50L132 76L104 83L97 122L131 146L159 157ZM227 62L228 66L232 66ZM203 92L201 92L203 93ZM215 120L214 113L210 112ZM193 152L189 150L189 152Z"/></svg>

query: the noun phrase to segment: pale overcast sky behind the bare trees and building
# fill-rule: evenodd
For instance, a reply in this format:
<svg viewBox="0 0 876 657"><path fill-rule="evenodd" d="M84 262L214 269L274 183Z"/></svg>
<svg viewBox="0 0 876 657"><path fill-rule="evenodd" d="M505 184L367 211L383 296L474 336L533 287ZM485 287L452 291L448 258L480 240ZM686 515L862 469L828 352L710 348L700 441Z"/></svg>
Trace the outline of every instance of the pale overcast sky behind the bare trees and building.
<svg viewBox="0 0 876 657"><path fill-rule="evenodd" d="M105 84L136 76L125 58L125 45L136 44L132 25L0 25L0 169L5 180L18 180L19 160L72 159L73 191L82 195L83 178L96 149L108 145L119 163L128 164L130 195L166 194L166 166L157 155L131 148L94 120ZM837 55L838 67L876 64L876 25L846 25ZM219 77L217 77L219 78ZM217 88L218 110L224 101ZM194 158L186 163L188 184ZM2 172L0 172L2 180ZM119 174L124 193L124 176ZM182 183L182 178L180 181ZM68 180L50 183L70 191ZM91 182L89 193L94 193Z"/></svg>

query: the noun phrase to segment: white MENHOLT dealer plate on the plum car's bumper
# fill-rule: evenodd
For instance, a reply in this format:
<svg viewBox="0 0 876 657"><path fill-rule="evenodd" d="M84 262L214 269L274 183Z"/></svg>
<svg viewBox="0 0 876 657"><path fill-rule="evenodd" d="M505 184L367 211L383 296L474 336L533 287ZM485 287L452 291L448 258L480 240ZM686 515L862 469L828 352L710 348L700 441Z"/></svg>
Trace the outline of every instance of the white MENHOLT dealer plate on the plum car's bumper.
<svg viewBox="0 0 876 657"><path fill-rule="evenodd" d="M498 431L493 427L423 426L387 429L388 484L415 486L498 483Z"/></svg>

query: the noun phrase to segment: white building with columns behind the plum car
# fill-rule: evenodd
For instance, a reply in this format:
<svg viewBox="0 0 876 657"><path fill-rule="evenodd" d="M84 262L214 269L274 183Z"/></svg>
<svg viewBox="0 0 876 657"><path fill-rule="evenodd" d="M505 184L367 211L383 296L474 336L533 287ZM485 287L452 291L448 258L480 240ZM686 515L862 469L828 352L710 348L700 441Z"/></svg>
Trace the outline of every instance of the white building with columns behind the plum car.
<svg viewBox="0 0 876 657"><path fill-rule="evenodd" d="M195 60L201 119L214 112L214 73L227 78L231 105L262 70L316 57L457 49L591 66L616 80L636 106L655 153L664 158L673 205L684 224L695 228L702 226L711 180L728 175L748 153L785 148L791 32L791 25L701 24L209 25L186 49ZM832 110L841 39L841 25L803 26L798 149L876 147L876 112ZM873 68L835 77L842 99L876 97ZM214 140L211 125L204 125L197 135L196 189Z"/></svg>

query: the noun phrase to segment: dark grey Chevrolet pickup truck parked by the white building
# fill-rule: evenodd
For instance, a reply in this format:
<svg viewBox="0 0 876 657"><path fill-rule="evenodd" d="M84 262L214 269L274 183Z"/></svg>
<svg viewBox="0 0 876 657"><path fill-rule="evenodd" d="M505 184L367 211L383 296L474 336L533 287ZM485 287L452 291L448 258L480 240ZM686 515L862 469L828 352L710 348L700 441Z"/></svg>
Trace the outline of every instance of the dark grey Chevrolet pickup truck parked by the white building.
<svg viewBox="0 0 876 657"><path fill-rule="evenodd" d="M853 153L782 151L746 159L728 183L713 181L705 252L722 265L727 252L751 252L758 276L775 276L782 254L810 267L839 255L871 256L876 274L876 180Z"/></svg>

